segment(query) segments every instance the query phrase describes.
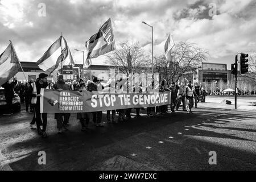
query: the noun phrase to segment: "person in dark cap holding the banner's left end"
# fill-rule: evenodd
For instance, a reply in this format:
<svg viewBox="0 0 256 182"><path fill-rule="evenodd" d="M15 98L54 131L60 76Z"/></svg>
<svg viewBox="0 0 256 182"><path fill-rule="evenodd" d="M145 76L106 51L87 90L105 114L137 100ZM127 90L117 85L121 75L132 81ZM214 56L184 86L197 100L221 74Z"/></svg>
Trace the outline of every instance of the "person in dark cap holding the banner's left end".
<svg viewBox="0 0 256 182"><path fill-rule="evenodd" d="M36 97L36 104L34 107L34 110L35 110L34 117L36 119L36 127L38 129L38 134L42 135L43 138L47 137L47 134L46 134L47 113L42 114L42 120L41 120L40 97L42 97L42 95L40 94L40 92L41 92L41 89L46 89L48 86L47 77L48 75L46 73L40 73L39 78L36 79L36 82L35 82L37 95L34 96ZM42 125L42 121L43 121L43 130L41 130L41 127L40 127Z"/></svg>

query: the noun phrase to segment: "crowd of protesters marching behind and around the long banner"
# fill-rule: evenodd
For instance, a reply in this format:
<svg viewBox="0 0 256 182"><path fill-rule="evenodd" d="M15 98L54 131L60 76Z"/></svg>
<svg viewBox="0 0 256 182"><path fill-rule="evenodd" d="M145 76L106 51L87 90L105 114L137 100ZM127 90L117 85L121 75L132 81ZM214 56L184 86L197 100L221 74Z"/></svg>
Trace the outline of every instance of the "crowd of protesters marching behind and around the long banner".
<svg viewBox="0 0 256 182"><path fill-rule="evenodd" d="M12 82L9 83L7 81L3 84L3 88L5 88L5 97L7 102L7 109L5 115L11 115L11 103L14 97L14 92L19 94L20 102L26 105L26 111L30 109L30 112L34 113L34 117L30 123L31 129L37 129L38 134L41 135L43 138L47 137L46 129L47 129L47 113L40 113L40 94L41 89L49 89L49 90L57 90L59 92L63 90L73 90L73 91L98 91L98 88L102 88L102 90L110 91L113 89L110 85L113 84L113 80L109 80L108 82L104 83L102 80L99 80L97 77L93 77L92 80L82 80L80 79L79 82L76 80L71 82L65 82L63 75L59 75L57 82L48 82L47 81L48 75L46 73L41 73L39 78L36 80L30 79L26 84L22 84L18 82L15 78ZM127 87L129 81L122 82L122 78L116 82L115 85L115 92L122 93L123 88ZM146 86L146 91L149 88L158 92L170 92L171 91L171 102L170 108L171 113L175 113L175 110L179 110L182 102L182 110L192 113L192 107L195 105L197 107L197 103L199 101L205 102L205 96L207 92L205 92L204 85L202 84L195 84L192 85L191 81L188 82L187 85L184 82L172 82L171 85L168 85L166 80L162 80L160 84L156 84L155 87L154 80L150 84ZM139 93L142 93L142 83L137 83L132 87L133 92L135 89L139 90ZM188 109L187 109L188 108ZM141 109L144 108L135 108L136 110L136 117L141 118ZM132 109L119 109L119 110L109 110L107 111L107 120L108 122L117 123L116 121L116 114L118 113L118 122L126 122L131 119L131 111ZM156 106L156 107L147 107L147 117L153 116L161 116L168 113L168 104L163 106ZM77 120L81 123L81 130L86 131L89 127L90 119L92 119L94 125L96 127L104 127L102 125L102 111L96 111L92 113L77 113ZM111 117L110 117L111 116ZM70 113L56 113L55 119L57 123L57 132L59 134L63 133L68 129L69 126L69 118L71 117ZM110 119L111 118L111 119Z"/></svg>

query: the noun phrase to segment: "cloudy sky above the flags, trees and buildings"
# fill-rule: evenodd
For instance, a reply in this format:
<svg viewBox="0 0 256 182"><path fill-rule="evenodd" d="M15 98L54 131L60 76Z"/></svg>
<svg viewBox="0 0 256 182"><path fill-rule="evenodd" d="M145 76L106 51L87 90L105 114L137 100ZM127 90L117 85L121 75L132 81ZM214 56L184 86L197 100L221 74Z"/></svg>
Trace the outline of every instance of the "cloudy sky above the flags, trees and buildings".
<svg viewBox="0 0 256 182"><path fill-rule="evenodd" d="M39 16L42 5L46 16ZM84 50L111 17L117 44L139 42L150 53L151 29L145 21L154 26L156 55L164 53L171 33L175 42L196 43L208 49L209 62L230 68L238 52L256 50L255 12L253 0L0 0L0 52L12 40L21 61L37 61L63 32L76 63L82 63L74 49Z"/></svg>

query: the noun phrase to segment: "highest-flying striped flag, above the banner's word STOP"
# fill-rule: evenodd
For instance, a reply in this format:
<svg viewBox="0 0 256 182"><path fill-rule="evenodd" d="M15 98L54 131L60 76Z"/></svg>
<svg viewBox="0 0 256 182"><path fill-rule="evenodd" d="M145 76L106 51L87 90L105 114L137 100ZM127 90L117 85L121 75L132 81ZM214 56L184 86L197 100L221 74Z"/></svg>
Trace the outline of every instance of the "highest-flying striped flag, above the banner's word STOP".
<svg viewBox="0 0 256 182"><path fill-rule="evenodd" d="M88 51L85 67L92 64L90 59L105 55L115 50L115 40L112 28L112 22L109 18L101 27L97 34L94 34L88 42L85 43Z"/></svg>

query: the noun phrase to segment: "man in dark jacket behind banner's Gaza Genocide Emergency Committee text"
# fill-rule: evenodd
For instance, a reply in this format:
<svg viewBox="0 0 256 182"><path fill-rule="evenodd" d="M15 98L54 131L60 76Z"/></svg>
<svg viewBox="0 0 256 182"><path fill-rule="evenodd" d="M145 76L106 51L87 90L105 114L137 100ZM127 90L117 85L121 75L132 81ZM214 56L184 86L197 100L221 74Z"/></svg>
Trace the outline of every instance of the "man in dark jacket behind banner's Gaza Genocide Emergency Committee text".
<svg viewBox="0 0 256 182"><path fill-rule="evenodd" d="M65 84L63 75L59 75L59 80L56 84L53 85L53 89L61 92L63 90L70 90L68 84ZM70 113L55 113L55 119L57 121L57 128L59 130L59 134L63 133L62 127L64 126L65 129L68 127L68 122L71 114ZM63 119L64 117L64 119Z"/></svg>

